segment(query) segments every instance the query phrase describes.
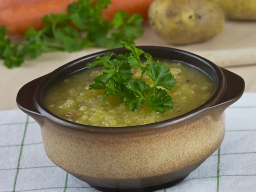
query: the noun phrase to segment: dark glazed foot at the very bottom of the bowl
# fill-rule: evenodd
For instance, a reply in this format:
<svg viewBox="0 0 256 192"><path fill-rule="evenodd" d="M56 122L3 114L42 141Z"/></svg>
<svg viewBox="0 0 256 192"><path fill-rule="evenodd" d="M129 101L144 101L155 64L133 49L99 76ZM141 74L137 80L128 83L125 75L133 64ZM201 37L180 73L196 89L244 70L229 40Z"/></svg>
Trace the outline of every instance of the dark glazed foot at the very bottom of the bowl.
<svg viewBox="0 0 256 192"><path fill-rule="evenodd" d="M180 183L181 181L183 181L187 176L188 175L180 177L180 178L170 181L168 183L163 183L163 184L156 185L156 186L148 186L148 187L134 188L134 189L117 189L117 188L95 186L95 185L90 185L90 184L89 185L99 191L102 191L102 192L154 192L157 190L166 189L171 186L174 186L177 183Z"/></svg>

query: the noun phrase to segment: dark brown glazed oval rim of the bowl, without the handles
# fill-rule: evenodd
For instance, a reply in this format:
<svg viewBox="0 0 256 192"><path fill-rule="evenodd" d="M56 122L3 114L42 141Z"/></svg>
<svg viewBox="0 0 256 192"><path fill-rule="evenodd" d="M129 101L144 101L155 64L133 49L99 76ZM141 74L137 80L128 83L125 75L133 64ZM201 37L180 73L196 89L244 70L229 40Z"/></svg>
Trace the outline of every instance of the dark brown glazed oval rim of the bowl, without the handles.
<svg viewBox="0 0 256 192"><path fill-rule="evenodd" d="M52 120L53 122L56 122L58 124L67 126L69 128L75 128L75 129L82 129L82 130L90 130L90 131L142 131L144 129L155 129L155 128L164 128L166 126L171 126L179 122L186 121L187 119L190 119L192 117L197 116L199 113L202 113L203 111L214 107L214 104L221 98L221 95L223 95L223 92L225 91L226 87L226 80L223 71L221 70L220 67L218 67L216 64L212 63L211 61L207 60L206 58L203 58L199 55L195 55L191 52L187 52L184 50L180 49L174 49L170 47L158 47L158 46L137 46L140 49L145 50L147 52L147 49L160 49L160 50L165 50L168 52L172 52L174 54L182 54L184 57L193 57L197 59L200 62L204 62L205 64L209 65L209 67L212 67L213 70L215 70L215 73L217 74L218 77L218 86L215 86L215 93L212 95L210 99L207 100L204 104L200 105L199 107L195 108L192 111L189 111L187 113L184 113L183 115L177 116L172 119L167 119L164 121L160 122L154 122L151 124L146 124L146 125L135 125L135 126L125 126L125 127L100 127L100 126L93 126L93 125L83 125L79 124L76 122L70 122L68 120L62 119L61 117L56 116L54 113L49 111L49 109L44 105L43 99L42 99L42 90L45 87L45 84L47 84L52 77L56 75L56 73L59 73L61 70L64 70L66 67L72 65L72 64L77 64L79 62L82 62L84 60L87 60L88 58L96 58L96 56L101 56L104 55L107 52L124 52L127 51L125 48L117 48L117 49L107 49L105 51L101 52L96 52L90 55L83 56L81 58L78 58L76 60L73 60L61 67L58 67L56 70L52 71L51 73L48 73L42 81L38 84L38 87L35 90L34 93L34 105L36 109L41 113L42 116L46 117L47 119ZM182 62L182 61L181 61ZM190 64L193 66L193 64ZM72 73L72 72L71 72ZM70 73L70 74L71 74Z"/></svg>

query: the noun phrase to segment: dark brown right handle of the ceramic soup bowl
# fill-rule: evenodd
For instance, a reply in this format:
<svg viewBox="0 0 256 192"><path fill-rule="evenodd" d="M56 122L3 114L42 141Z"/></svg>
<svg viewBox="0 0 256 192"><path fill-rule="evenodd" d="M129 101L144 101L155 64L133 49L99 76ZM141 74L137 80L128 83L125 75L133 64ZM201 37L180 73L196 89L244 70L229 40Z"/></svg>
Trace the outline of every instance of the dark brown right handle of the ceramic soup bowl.
<svg viewBox="0 0 256 192"><path fill-rule="evenodd" d="M229 70L226 70L222 67L220 68L226 77L227 87L223 96L221 96L221 99L216 102L215 106L225 104L230 106L243 95L245 88L244 79Z"/></svg>

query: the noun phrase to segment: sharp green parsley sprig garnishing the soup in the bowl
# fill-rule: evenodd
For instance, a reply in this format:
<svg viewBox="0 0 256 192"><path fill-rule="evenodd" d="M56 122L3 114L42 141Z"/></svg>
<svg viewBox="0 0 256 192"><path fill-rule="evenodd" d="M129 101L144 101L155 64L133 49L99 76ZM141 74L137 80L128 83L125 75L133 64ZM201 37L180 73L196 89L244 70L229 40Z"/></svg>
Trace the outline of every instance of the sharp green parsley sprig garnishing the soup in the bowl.
<svg viewBox="0 0 256 192"><path fill-rule="evenodd" d="M87 67L92 68L96 65L103 66L103 74L96 76L94 83L90 84L90 89L103 89L103 98L107 99L110 94L115 94L121 102L125 102L131 111L138 111L144 102L147 107L153 108L155 112L164 113L166 109L173 108L172 97L166 90L172 90L176 84L176 79L170 73L170 69L164 66L159 60L153 61L150 54L138 49L134 44L121 44L130 53L116 55L113 52L107 53L103 57L97 57L93 63L88 63ZM147 60L143 65L141 56ZM132 68L139 67L140 79L134 79L131 73ZM144 74L154 81L154 86L149 86L142 81ZM160 87L159 87L160 86Z"/></svg>

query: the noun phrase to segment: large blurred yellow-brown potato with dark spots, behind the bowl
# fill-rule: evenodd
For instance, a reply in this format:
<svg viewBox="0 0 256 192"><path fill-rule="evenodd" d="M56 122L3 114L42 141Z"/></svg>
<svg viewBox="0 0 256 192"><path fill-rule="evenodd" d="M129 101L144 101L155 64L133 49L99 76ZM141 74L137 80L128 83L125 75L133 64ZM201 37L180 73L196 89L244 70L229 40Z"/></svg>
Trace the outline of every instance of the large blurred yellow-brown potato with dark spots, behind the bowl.
<svg viewBox="0 0 256 192"><path fill-rule="evenodd" d="M209 0L154 0L148 19L167 43L192 44L221 32L225 16L221 7Z"/></svg>

